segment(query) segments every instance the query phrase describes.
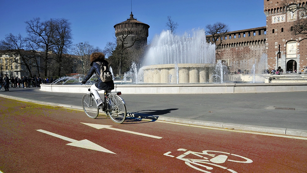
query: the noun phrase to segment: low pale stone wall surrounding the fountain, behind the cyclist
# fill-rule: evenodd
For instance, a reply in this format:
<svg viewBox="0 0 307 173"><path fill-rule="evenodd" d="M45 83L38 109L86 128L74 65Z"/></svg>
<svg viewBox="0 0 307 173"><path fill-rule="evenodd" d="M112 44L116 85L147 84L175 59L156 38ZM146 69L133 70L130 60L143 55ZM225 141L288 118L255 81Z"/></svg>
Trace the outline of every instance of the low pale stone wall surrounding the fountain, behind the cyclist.
<svg viewBox="0 0 307 173"><path fill-rule="evenodd" d="M87 93L85 85L41 84L41 91ZM225 84L116 84L113 91L124 94L218 94L307 91L307 83ZM99 93L103 93L100 91Z"/></svg>

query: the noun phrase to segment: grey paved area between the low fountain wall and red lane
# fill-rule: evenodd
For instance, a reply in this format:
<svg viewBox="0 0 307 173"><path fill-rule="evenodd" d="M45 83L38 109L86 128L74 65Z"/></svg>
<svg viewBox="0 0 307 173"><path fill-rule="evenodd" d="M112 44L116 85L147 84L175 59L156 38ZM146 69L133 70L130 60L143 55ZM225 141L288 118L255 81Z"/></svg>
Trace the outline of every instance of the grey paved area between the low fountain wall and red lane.
<svg viewBox="0 0 307 173"><path fill-rule="evenodd" d="M55 93L39 88L0 90L0 96L82 109L80 93ZM307 92L237 94L122 94L132 116L210 127L307 137ZM29 99L29 100L27 100ZM44 103L49 102L49 103Z"/></svg>

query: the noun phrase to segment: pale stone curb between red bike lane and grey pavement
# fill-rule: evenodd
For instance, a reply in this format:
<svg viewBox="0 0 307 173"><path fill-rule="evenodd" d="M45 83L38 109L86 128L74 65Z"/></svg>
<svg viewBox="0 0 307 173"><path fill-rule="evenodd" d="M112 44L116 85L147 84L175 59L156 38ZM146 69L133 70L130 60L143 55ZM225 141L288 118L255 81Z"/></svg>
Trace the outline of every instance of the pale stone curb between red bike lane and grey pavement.
<svg viewBox="0 0 307 173"><path fill-rule="evenodd" d="M2 95L1 97L32 102L42 105L50 105L50 106L58 106L58 107L65 107L70 109L77 109L83 110L82 106L75 106L75 105L65 105L65 104L58 104L58 103L51 103L51 102L44 102L44 101L37 101L31 99L24 99L20 97ZM141 114L134 114L132 115L140 116ZM146 116L149 116L146 114ZM144 117L146 117L144 116ZM242 131L251 131L251 132L262 132L262 133L273 133L273 134L280 134L280 135L288 135L288 136L298 136L298 137L307 137L307 130L299 130L299 129L287 129L287 128L278 128L278 127L265 127L265 126L253 126L253 125L244 125L244 124L232 124L232 123L223 123L223 122L209 122L209 121L202 121L202 120L190 120L190 119L183 119L183 118L173 118L173 117L166 117L166 116L158 116L158 120L166 121L166 122L176 122L176 123L183 123L183 124L192 124L198 126L206 126L206 127L217 127L217 128L226 128L226 129L234 129L234 130L242 130Z"/></svg>

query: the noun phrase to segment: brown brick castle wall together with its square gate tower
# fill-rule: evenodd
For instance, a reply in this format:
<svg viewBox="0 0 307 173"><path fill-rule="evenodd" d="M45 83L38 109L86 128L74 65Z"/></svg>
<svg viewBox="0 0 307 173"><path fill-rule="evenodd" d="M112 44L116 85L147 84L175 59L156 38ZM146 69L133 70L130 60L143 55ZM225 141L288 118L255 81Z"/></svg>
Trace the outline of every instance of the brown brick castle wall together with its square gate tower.
<svg viewBox="0 0 307 173"><path fill-rule="evenodd" d="M267 69L301 71L307 66L307 41L292 33L294 22L307 17L304 10L286 11L283 0L264 0L267 25L259 28L228 32L217 45L216 60L221 60L230 71L259 61L263 53L268 56ZM307 2L298 2L306 7ZM212 39L211 35L207 36ZM243 63L243 64L242 64ZM250 67L247 67L250 68Z"/></svg>

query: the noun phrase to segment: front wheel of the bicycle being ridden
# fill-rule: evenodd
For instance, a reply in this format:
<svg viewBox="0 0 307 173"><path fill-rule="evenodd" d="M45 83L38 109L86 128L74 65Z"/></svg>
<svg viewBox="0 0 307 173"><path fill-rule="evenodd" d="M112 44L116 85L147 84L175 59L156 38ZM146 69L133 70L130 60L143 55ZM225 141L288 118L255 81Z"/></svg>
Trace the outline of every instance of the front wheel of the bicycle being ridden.
<svg viewBox="0 0 307 173"><path fill-rule="evenodd" d="M96 118L99 113L96 101L89 95L86 94L82 98L82 107L86 115L90 118Z"/></svg>

